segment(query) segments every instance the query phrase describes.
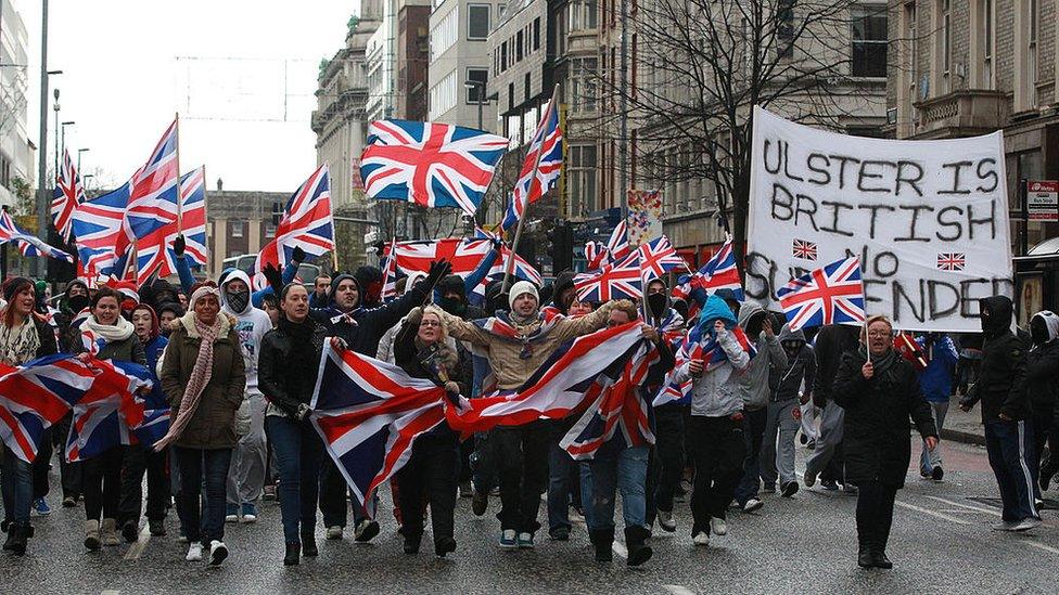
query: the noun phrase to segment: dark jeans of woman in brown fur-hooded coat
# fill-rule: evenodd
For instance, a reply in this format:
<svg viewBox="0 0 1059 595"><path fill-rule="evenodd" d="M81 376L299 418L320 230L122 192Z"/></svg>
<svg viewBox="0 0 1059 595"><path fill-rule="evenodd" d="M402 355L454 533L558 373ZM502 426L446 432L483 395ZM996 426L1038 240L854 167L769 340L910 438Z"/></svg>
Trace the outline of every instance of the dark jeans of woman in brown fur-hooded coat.
<svg viewBox="0 0 1059 595"><path fill-rule="evenodd" d="M186 449L174 447L180 465L180 491L183 493L183 528L188 541L208 546L213 540L225 541L225 494L231 449ZM200 494L206 484L205 519Z"/></svg>

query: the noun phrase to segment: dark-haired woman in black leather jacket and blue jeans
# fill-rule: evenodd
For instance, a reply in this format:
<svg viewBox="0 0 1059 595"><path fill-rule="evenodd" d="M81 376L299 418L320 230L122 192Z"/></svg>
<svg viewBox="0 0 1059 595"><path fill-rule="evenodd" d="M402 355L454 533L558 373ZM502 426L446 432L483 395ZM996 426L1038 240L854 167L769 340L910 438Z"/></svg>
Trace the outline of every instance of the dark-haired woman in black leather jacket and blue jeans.
<svg viewBox="0 0 1059 595"><path fill-rule="evenodd" d="M290 283L280 292L276 328L261 338L257 387L268 401L265 431L279 467L280 514L286 553L283 564L316 556L316 508L323 441L308 421L327 328L308 318L309 294Z"/></svg>

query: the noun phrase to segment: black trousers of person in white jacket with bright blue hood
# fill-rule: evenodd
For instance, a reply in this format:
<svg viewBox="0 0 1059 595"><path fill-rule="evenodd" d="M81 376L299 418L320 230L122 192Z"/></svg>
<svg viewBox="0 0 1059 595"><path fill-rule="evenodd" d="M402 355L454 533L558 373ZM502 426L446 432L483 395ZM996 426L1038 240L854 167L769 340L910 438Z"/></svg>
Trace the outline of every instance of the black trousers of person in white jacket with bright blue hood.
<svg viewBox="0 0 1059 595"><path fill-rule="evenodd" d="M688 447L694 462L691 493L692 536L710 533L710 518L725 518L728 503L743 476L747 441L742 422L730 417L692 415L688 423Z"/></svg>

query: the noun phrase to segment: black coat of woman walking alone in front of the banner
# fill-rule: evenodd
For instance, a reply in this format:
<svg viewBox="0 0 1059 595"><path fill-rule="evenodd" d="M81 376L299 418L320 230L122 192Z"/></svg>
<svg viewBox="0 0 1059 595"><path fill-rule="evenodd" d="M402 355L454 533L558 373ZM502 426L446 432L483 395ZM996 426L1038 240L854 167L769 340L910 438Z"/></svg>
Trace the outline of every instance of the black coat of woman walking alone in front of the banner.
<svg viewBox="0 0 1059 595"><path fill-rule="evenodd" d="M831 398L845 410L842 449L845 478L853 484L905 484L911 458L909 416L923 438L937 437L916 371L901 355L892 355L894 363L888 370L865 379L860 372L865 353L846 351L831 388Z"/></svg>

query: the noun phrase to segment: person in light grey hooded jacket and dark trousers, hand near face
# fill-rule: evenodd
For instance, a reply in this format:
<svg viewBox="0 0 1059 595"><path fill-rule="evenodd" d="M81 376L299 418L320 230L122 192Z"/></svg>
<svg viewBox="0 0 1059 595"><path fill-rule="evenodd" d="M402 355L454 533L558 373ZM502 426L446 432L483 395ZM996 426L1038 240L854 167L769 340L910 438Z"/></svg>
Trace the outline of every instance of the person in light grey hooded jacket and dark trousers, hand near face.
<svg viewBox="0 0 1059 595"><path fill-rule="evenodd" d="M739 377L739 398L743 401L743 436L747 437L747 458L743 478L736 489L736 502L744 513L762 507L757 497L761 484L761 445L768 415L768 374L787 368L787 353L773 331L773 321L761 305L747 301L739 308L739 326L757 350L750 366Z"/></svg>

